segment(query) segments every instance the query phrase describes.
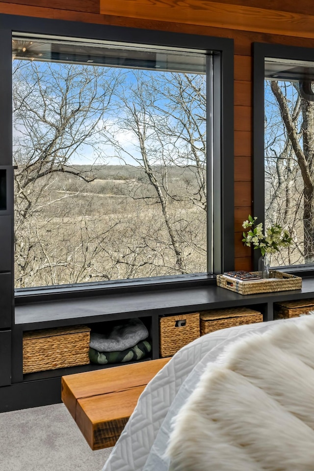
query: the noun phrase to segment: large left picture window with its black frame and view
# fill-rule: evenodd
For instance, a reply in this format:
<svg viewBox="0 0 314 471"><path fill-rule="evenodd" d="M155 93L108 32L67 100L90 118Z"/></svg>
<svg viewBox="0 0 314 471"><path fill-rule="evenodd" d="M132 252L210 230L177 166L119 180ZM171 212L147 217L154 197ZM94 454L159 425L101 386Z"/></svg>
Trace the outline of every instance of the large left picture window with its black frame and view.
<svg viewBox="0 0 314 471"><path fill-rule="evenodd" d="M16 296L204 283L232 269L233 41L3 20Z"/></svg>

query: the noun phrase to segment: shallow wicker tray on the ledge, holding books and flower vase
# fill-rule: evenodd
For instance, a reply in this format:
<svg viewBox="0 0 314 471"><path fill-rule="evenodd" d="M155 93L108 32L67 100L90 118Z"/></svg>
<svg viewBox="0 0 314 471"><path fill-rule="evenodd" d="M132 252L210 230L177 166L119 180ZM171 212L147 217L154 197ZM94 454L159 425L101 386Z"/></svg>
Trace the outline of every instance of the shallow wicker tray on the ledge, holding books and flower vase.
<svg viewBox="0 0 314 471"><path fill-rule="evenodd" d="M216 281L217 286L230 289L239 294L268 293L302 288L302 278L299 276L277 270L270 270L269 276L271 277L269 279L241 282L238 280L231 281L224 275L217 275Z"/></svg>

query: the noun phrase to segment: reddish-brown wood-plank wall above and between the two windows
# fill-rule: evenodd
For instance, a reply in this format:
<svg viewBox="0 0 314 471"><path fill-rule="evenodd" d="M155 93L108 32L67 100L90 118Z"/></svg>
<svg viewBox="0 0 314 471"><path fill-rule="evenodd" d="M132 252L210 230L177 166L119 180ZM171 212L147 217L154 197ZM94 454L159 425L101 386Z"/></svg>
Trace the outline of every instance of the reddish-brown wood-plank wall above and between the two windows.
<svg viewBox="0 0 314 471"><path fill-rule="evenodd" d="M241 242L252 210L252 43L314 47L312 0L14 0L0 13L142 27L235 41L235 269L251 269Z"/></svg>

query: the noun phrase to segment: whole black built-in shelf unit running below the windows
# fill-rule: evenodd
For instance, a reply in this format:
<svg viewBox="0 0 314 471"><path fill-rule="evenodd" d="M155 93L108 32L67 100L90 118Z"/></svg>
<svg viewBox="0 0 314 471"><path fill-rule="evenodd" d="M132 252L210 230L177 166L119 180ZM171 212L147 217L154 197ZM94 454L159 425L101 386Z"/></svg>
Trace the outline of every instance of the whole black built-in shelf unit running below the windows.
<svg viewBox="0 0 314 471"><path fill-rule="evenodd" d="M140 317L150 333L152 352L159 357L159 317L208 309L247 306L259 310L264 321L273 319L275 302L314 298L314 277L304 278L302 289L241 295L213 284L194 288L145 290L141 293L106 294L78 299L41 301L15 306L14 356L11 386L0 388L0 412L61 401L61 376L117 365L82 365L22 373L23 332L26 330L106 322ZM144 361L144 360L142 360Z"/></svg>

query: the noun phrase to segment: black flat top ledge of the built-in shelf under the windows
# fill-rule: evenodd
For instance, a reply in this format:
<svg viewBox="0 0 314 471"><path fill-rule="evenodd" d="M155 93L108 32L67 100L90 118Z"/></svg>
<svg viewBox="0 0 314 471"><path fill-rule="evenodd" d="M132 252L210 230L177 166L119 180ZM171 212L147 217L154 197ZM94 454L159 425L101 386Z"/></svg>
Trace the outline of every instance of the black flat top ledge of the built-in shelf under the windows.
<svg viewBox="0 0 314 471"><path fill-rule="evenodd" d="M23 330L88 324L152 314L181 314L200 310L271 303L274 300L314 296L314 278L305 278L302 289L241 295L217 286L167 289L38 302L15 307L15 324ZM265 319L266 320L266 319ZM271 319L269 319L271 320Z"/></svg>

